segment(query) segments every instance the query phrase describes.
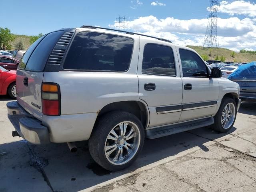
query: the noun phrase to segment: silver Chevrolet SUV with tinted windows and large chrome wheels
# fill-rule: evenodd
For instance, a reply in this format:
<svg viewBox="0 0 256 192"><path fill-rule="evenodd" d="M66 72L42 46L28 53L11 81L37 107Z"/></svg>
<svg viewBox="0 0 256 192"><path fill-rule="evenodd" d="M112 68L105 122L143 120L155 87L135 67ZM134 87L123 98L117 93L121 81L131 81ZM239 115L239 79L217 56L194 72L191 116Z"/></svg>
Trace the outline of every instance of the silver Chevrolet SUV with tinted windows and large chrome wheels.
<svg viewBox="0 0 256 192"><path fill-rule="evenodd" d="M33 144L89 140L92 158L121 170L144 138L232 128L239 85L192 49L132 32L82 26L39 38L17 70L8 118ZM74 146L74 145L73 145Z"/></svg>

